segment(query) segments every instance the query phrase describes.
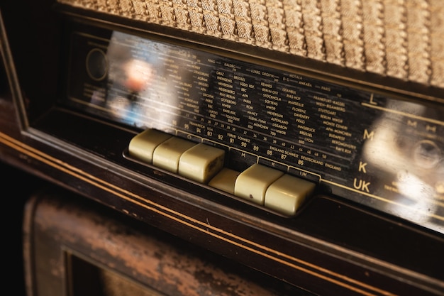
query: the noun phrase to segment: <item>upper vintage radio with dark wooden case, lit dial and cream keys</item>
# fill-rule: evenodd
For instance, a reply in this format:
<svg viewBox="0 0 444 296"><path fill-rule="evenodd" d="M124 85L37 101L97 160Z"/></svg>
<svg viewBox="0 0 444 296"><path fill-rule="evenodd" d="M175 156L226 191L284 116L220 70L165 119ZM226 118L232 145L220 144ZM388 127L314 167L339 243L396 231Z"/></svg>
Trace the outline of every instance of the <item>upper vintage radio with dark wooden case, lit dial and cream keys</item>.
<svg viewBox="0 0 444 296"><path fill-rule="evenodd" d="M4 16L1 143L316 294L444 295L444 11L423 2L60 0L33 75Z"/></svg>

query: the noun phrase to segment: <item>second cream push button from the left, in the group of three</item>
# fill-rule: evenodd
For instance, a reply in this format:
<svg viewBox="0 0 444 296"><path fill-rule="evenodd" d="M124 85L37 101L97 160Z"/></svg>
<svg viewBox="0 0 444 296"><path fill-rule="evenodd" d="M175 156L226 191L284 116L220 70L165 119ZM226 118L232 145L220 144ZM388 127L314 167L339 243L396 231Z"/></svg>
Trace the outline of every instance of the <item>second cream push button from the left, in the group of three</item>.
<svg viewBox="0 0 444 296"><path fill-rule="evenodd" d="M152 153L152 165L176 173L182 153L195 146L196 143L183 138L172 137L161 143Z"/></svg>

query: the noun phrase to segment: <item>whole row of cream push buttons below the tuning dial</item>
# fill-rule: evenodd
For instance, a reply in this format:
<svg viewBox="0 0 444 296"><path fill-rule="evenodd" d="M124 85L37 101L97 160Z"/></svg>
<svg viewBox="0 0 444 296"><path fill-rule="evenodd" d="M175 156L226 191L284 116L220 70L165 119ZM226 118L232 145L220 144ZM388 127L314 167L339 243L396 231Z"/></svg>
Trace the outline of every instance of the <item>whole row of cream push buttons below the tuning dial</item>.
<svg viewBox="0 0 444 296"><path fill-rule="evenodd" d="M224 167L225 151L155 129L133 137L131 158L209 185L285 216L294 216L315 184L265 165L243 172Z"/></svg>

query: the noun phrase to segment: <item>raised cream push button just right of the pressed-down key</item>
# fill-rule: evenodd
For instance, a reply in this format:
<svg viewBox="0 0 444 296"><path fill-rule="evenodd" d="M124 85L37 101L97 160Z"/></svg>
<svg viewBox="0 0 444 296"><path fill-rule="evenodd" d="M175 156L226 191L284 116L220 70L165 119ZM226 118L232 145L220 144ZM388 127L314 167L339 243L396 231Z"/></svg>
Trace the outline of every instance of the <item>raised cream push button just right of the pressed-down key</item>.
<svg viewBox="0 0 444 296"><path fill-rule="evenodd" d="M241 172L236 179L234 194L263 205L268 186L282 175L284 175L283 172L268 168L265 165L252 165Z"/></svg>

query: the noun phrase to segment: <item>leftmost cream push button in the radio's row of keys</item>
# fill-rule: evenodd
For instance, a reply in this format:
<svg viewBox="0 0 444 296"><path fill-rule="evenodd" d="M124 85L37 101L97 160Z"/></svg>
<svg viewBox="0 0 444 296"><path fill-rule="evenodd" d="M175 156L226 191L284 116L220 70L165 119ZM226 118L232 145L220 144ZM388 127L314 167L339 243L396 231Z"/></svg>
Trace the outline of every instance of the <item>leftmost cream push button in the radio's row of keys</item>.
<svg viewBox="0 0 444 296"><path fill-rule="evenodd" d="M155 148L171 137L168 133L147 129L131 139L128 145L128 154L132 158L151 164Z"/></svg>

